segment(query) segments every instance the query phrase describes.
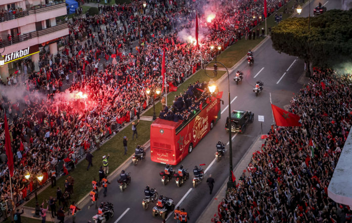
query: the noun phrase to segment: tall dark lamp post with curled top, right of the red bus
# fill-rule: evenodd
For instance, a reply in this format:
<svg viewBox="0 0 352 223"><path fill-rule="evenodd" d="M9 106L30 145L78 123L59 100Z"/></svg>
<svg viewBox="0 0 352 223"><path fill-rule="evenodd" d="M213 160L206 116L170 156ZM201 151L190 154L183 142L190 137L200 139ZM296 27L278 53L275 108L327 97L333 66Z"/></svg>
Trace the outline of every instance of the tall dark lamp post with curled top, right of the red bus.
<svg viewBox="0 0 352 223"><path fill-rule="evenodd" d="M216 63L215 62L210 62L208 63L205 68L204 68L204 72L205 74L208 76L208 77L216 77L216 74L217 72L214 72L214 75L213 76L210 76L206 73L206 67L211 64L211 63ZM236 185L236 182L233 182L232 181L232 170L233 170L233 165L232 165L232 139L231 139L231 97L230 97L230 73L229 73L229 70L227 69L227 67L223 64L223 63L220 63L220 62L217 62L219 64L221 64L225 69L226 69L226 72L228 74L228 98L229 98L229 118L228 118L228 125L229 125L229 181L227 183L227 187L228 188L233 188L235 185ZM215 91L215 83L212 79L210 79L209 83L208 83L208 88L209 88L209 92L213 93Z"/></svg>

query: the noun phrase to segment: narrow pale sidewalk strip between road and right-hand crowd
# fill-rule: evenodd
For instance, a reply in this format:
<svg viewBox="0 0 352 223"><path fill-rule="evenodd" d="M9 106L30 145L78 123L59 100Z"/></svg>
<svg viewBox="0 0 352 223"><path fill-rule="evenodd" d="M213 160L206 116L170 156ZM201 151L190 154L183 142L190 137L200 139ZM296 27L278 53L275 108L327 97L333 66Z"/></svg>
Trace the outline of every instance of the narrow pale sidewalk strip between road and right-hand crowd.
<svg viewBox="0 0 352 223"><path fill-rule="evenodd" d="M263 142L264 140L261 140L260 136L258 136L257 139L249 148L249 150L247 151L247 153L243 156L241 161L236 165L234 169L234 175L236 176L236 179L239 179L243 173L243 170L247 169L248 163L252 158L252 154L257 150L260 150ZM246 174L247 174L247 171L246 171ZM226 189L227 189L227 182L228 182L228 178L226 178L225 182L223 183L223 186L221 187L220 190L217 191L216 195L214 196L214 200L212 200L206 206L203 213L198 217L196 222L201 222L201 223L213 222L212 219L214 218L214 214L216 214L217 216L217 206L225 196Z"/></svg>

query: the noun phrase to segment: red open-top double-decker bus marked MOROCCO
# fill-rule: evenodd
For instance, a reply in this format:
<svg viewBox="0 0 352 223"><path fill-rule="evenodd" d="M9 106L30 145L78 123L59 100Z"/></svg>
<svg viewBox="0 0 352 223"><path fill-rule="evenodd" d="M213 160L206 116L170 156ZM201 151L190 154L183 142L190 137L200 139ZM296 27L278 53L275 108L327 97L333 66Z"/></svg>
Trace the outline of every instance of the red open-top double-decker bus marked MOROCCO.
<svg viewBox="0 0 352 223"><path fill-rule="evenodd" d="M220 119L220 99L203 103L188 120L178 122L157 118L150 127L151 159L177 165Z"/></svg>

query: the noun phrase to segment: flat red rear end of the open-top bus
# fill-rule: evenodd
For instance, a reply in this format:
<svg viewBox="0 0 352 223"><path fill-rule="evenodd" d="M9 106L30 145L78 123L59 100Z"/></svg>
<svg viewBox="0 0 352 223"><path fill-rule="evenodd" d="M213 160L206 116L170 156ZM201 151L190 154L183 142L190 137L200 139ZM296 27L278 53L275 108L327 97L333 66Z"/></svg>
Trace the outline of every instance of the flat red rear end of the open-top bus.
<svg viewBox="0 0 352 223"><path fill-rule="evenodd" d="M174 129L150 126L150 157L152 161L171 165L178 163L175 160L175 157L179 157L179 155L174 153L174 135Z"/></svg>

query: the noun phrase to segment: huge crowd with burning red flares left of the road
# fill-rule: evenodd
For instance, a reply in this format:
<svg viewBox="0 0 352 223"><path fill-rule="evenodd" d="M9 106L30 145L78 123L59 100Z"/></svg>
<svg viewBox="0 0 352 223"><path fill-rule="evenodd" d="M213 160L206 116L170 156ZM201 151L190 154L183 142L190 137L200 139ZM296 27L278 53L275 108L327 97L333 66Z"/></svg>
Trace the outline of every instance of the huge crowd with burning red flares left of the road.
<svg viewBox="0 0 352 223"><path fill-rule="evenodd" d="M99 15L69 22L65 50L57 55L41 52L40 71L27 69L28 79L24 84L12 76L8 87L18 92L15 95L23 93L24 87L25 93L20 96L21 100L14 100L13 95L3 92L0 123L4 123L6 113L11 121L15 166L12 191L16 204L34 188L24 179L26 172L32 173L33 179L34 173L42 172L45 182L62 160L74 168L81 150L99 146L97 139L102 134L113 134L112 125L129 122L137 109L148 106L151 99L146 88L162 85L163 49L165 82L178 86L201 63L211 60L214 52L209 50L210 45L221 44L224 50L255 25L251 19L253 13L262 13L259 2L223 1L222 4L229 7L217 10L215 20L207 22L205 14L200 16L200 27L208 27L207 34L203 33L201 38L200 50L195 42L185 41L179 34L185 29L194 33L197 1L149 0L146 8L138 1L100 7ZM279 0L271 1L268 8L279 4ZM236 19L237 25L231 19ZM128 49L130 53L126 53ZM110 59L112 63L105 63ZM202 84L201 87L204 89ZM199 102L189 103L189 96L190 92L181 95L187 107L179 108L175 103L178 118L184 115L187 119L192 109L199 108ZM3 124L0 139L0 191L6 199L10 197L10 182ZM64 174L68 173L66 167L62 170Z"/></svg>

